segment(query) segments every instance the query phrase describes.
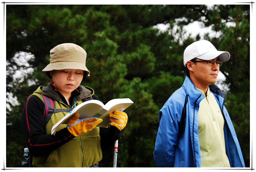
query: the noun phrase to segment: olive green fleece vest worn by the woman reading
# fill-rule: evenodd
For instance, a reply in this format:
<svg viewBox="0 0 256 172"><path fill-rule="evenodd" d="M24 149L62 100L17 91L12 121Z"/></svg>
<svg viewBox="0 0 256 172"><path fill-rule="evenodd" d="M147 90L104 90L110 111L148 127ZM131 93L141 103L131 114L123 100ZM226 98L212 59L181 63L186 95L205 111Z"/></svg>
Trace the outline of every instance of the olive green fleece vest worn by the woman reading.
<svg viewBox="0 0 256 172"><path fill-rule="evenodd" d="M32 94L38 96L43 102L43 98L37 93L44 94L40 87ZM67 105L60 101L54 100L55 109L69 109ZM79 100L76 104L81 104ZM67 112L53 113L51 119L46 125L46 133L51 134L52 126L61 120ZM65 128L67 125L62 124L58 130ZM61 147L53 150L48 155L42 157L33 157L34 167L90 167L97 164L102 159L101 140L99 127L82 133L74 139L65 143Z"/></svg>

